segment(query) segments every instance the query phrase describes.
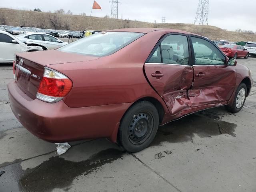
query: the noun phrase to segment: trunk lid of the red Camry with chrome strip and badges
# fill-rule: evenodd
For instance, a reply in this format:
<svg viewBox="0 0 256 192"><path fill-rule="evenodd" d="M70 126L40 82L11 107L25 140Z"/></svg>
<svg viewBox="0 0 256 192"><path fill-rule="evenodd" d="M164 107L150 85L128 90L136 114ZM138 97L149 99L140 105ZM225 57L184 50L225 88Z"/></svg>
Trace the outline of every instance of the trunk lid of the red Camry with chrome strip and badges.
<svg viewBox="0 0 256 192"><path fill-rule="evenodd" d="M96 60L97 57L60 52L57 50L27 52L16 55L14 67L18 87L30 98L35 99L46 65Z"/></svg>

